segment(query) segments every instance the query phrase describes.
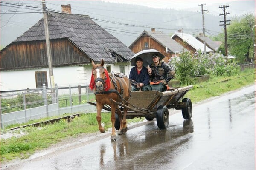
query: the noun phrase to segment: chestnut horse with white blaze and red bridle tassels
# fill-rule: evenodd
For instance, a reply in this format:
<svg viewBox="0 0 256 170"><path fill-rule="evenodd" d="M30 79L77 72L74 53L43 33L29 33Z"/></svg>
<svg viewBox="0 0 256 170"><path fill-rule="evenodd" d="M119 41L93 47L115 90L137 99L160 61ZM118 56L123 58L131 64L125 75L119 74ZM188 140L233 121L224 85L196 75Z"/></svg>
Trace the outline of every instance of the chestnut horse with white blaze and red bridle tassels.
<svg viewBox="0 0 256 170"><path fill-rule="evenodd" d="M97 122L99 125L99 131L101 133L105 132L104 127L101 124L101 111L104 105L111 107L111 141L116 140L116 130L115 130L115 113L117 113L120 122L120 128L118 130L118 135L123 135L127 132L126 124L126 113L127 108L123 108L123 118L122 113L116 102L122 102L124 105L128 105L128 99L131 95L131 83L129 78L124 75L119 77L117 74L108 73L107 69L103 67L104 61L101 60L100 64L95 64L92 61L92 75L89 84L90 89L94 89L95 99L96 99L96 109L97 109ZM113 99L113 100L111 100Z"/></svg>

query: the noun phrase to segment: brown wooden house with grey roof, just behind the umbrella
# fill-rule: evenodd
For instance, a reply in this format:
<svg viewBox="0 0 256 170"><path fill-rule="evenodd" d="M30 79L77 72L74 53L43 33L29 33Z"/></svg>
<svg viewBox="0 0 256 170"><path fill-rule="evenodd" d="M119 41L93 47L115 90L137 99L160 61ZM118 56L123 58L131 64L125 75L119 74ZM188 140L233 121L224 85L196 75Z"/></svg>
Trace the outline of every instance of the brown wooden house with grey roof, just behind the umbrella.
<svg viewBox="0 0 256 170"><path fill-rule="evenodd" d="M131 43L129 48L134 53L146 49L156 49L165 56L163 61L166 63L168 63L171 57L183 51L187 51L186 48L183 48L182 45L175 42L169 35L164 34L162 31L155 31L155 28L152 28L151 31L144 30L140 36Z"/></svg>

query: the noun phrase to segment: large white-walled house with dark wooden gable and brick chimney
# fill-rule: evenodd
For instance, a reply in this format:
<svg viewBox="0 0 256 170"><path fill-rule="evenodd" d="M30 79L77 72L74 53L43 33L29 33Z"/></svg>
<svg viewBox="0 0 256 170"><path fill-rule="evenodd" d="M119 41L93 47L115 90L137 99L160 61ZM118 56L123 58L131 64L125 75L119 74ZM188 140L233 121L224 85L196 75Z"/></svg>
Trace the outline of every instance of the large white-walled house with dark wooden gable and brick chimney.
<svg viewBox="0 0 256 170"><path fill-rule="evenodd" d="M58 86L90 82L91 61L105 61L109 72L129 74L134 53L88 15L47 11L54 82ZM41 88L49 83L43 18L0 51L1 91Z"/></svg>

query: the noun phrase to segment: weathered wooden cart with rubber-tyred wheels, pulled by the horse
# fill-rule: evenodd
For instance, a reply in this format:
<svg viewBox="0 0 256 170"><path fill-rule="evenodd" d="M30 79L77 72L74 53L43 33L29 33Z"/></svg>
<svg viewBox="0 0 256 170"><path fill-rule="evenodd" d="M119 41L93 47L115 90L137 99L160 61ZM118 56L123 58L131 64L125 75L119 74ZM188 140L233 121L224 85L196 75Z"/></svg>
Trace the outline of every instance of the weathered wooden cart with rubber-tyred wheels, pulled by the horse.
<svg viewBox="0 0 256 170"><path fill-rule="evenodd" d="M165 92L160 91L133 91L128 100L129 105L124 105L111 99L116 105L122 108L128 108L126 119L135 117L145 117L148 121L157 119L157 126L160 129L166 129L169 124L170 108L181 109L184 119L192 117L192 102L189 98L183 96L193 88L192 85L186 87L174 87ZM95 103L88 102L91 105ZM111 111L111 108L104 106L103 109ZM122 112L123 113L123 112ZM116 114L115 128L120 128L118 115Z"/></svg>

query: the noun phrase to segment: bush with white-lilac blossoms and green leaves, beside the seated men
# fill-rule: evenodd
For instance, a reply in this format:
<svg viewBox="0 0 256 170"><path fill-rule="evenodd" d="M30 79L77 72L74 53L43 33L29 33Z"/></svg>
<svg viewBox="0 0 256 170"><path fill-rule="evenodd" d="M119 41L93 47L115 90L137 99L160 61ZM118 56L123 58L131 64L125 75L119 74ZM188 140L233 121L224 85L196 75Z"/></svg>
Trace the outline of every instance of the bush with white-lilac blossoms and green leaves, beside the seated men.
<svg viewBox="0 0 256 170"><path fill-rule="evenodd" d="M197 51L195 54L180 53L179 57L172 57L169 64L175 68L176 77L182 84L191 84L190 77L202 75L231 76L240 71L239 65L224 55L218 53L204 55L201 51Z"/></svg>

